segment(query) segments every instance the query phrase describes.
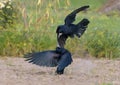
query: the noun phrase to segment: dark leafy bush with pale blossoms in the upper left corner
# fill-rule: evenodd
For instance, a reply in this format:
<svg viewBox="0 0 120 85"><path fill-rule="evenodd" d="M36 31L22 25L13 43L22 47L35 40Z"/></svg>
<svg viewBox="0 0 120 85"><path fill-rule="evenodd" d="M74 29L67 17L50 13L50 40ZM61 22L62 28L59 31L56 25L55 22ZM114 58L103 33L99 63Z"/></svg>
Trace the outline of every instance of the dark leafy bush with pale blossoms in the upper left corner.
<svg viewBox="0 0 120 85"><path fill-rule="evenodd" d="M0 1L0 30L15 28L19 19L18 9L11 0Z"/></svg>

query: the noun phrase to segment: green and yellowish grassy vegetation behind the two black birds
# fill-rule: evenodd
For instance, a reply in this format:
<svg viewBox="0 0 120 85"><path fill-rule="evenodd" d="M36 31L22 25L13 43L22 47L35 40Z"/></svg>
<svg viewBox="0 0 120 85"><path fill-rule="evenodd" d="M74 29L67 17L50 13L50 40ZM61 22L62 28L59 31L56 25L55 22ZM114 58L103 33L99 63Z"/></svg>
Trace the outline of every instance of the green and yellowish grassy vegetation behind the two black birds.
<svg viewBox="0 0 120 85"><path fill-rule="evenodd" d="M56 28L72 10L90 5L90 9L77 15L90 20L89 27L80 38L68 39L66 48L73 54L83 56L87 51L95 57L119 58L119 15L97 13L106 0L15 0L10 17L13 23L0 22L0 55L23 56L31 51L43 51L56 47ZM19 10L19 11L18 11ZM0 9L0 13L3 9ZM17 12L16 12L17 11ZM5 12L7 15L9 11ZM18 18L19 16L19 18ZM15 18L13 18L15 17ZM0 19L3 19L0 15ZM8 18L9 19L9 18ZM75 23L76 23L75 22ZM3 26L5 25L5 26Z"/></svg>

